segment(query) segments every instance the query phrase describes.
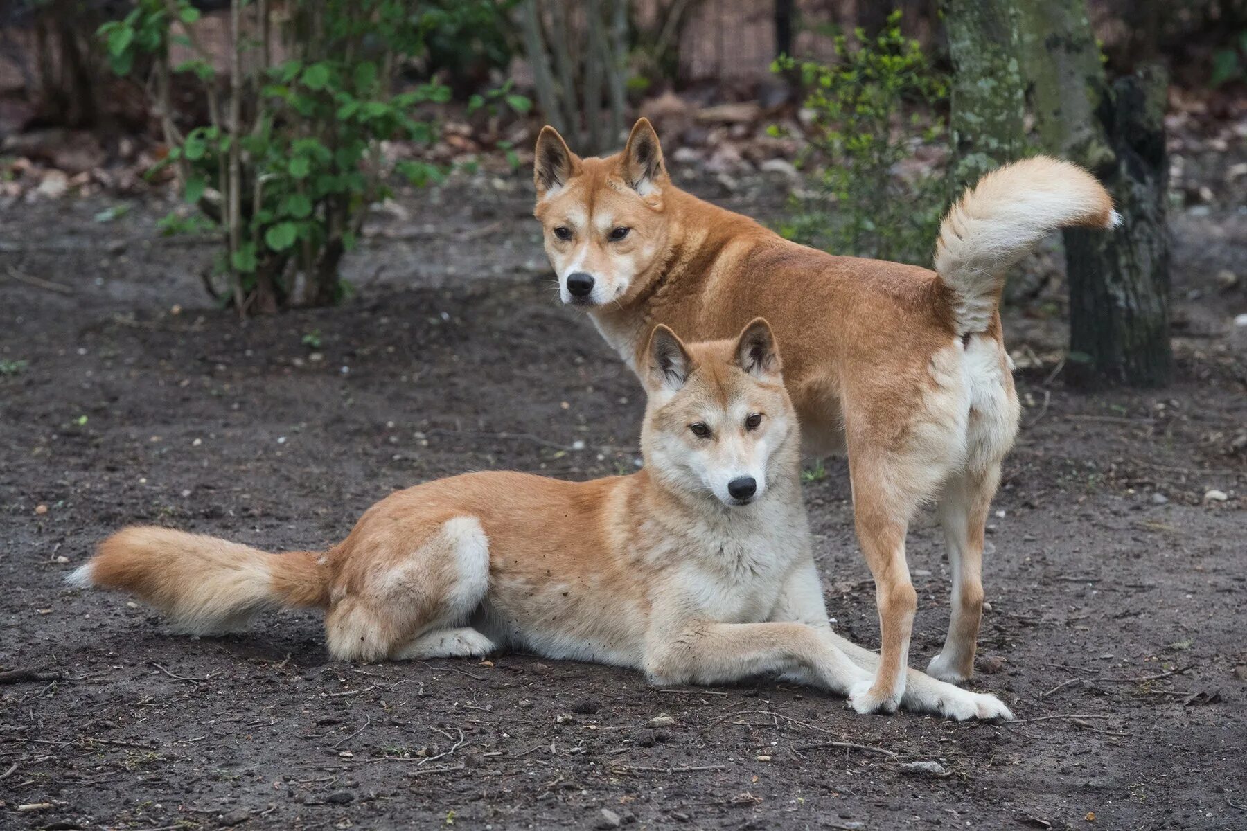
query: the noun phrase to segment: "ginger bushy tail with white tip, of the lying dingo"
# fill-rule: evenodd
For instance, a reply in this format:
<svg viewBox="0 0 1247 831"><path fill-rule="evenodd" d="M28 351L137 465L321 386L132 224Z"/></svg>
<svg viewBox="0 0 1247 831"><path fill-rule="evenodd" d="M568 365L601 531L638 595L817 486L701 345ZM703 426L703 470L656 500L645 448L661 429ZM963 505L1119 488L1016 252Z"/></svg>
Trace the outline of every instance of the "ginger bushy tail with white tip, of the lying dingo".
<svg viewBox="0 0 1247 831"><path fill-rule="evenodd" d="M209 634L246 628L266 608L327 605L322 559L312 551L269 554L216 537L136 526L105 539L69 582L137 594L176 629Z"/></svg>

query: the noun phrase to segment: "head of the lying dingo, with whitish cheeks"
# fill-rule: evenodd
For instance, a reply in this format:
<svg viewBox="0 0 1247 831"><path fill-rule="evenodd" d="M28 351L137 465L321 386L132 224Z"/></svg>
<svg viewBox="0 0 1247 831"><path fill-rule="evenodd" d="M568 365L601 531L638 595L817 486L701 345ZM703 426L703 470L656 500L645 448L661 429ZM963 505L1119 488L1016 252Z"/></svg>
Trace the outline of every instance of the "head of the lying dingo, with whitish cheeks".
<svg viewBox="0 0 1247 831"><path fill-rule="evenodd" d="M771 325L754 319L734 340L686 346L658 325L646 349L646 467L677 491L726 506L761 500L796 480L799 434L779 375Z"/></svg>

